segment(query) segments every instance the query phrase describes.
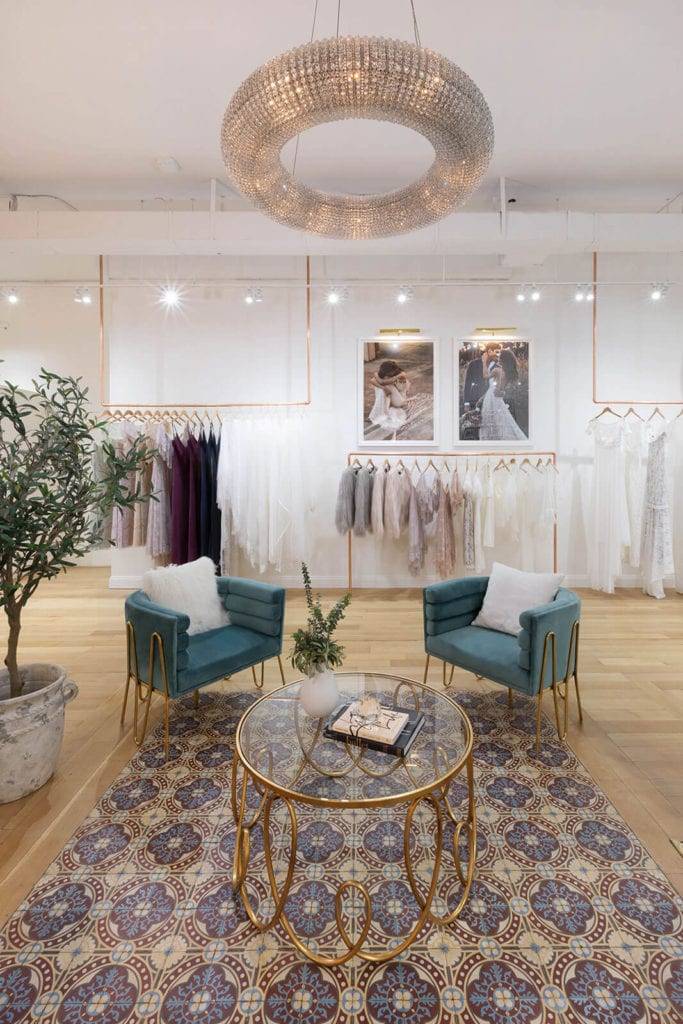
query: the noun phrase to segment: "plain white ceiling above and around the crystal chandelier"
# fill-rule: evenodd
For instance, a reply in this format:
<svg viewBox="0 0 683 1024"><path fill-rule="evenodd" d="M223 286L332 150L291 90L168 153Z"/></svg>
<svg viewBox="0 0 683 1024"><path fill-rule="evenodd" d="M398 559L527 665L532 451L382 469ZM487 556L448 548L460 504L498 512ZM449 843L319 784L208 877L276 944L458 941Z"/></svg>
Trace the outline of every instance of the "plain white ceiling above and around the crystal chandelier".
<svg viewBox="0 0 683 1024"><path fill-rule="evenodd" d="M422 42L470 74L494 115L497 178L526 208L656 210L683 188L681 0L415 0ZM218 133L239 83L306 41L312 0L4 0L0 193L196 196L224 176ZM318 0L316 37L336 0ZM343 0L343 33L412 37L409 0ZM180 175L155 167L172 155ZM392 126L302 136L298 173L392 187L429 147ZM521 184L516 183L521 182Z"/></svg>

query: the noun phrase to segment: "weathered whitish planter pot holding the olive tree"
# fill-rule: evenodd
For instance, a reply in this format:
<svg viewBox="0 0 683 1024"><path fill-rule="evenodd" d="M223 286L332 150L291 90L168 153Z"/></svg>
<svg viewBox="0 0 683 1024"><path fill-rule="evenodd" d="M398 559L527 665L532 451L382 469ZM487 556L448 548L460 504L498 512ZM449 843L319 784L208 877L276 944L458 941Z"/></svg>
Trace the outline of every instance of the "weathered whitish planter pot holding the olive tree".
<svg viewBox="0 0 683 1024"><path fill-rule="evenodd" d="M0 804L39 790L54 774L65 731L65 705L78 686L58 665L19 667L24 692L9 696L0 672Z"/></svg>

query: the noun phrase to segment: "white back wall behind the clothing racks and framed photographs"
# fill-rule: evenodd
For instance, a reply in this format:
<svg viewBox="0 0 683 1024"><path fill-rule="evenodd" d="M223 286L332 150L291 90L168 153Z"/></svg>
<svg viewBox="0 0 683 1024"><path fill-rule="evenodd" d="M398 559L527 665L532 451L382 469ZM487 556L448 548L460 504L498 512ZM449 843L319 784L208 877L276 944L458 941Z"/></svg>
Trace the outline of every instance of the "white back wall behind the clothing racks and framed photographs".
<svg viewBox="0 0 683 1024"><path fill-rule="evenodd" d="M612 285L599 293L600 387L607 397L683 401L683 345L680 340L683 289L672 288L658 305L647 298L646 283L683 280L673 257L604 256L601 276L640 282ZM61 261L63 264L63 261ZM680 261L679 261L680 264ZM92 272L92 264L90 264ZM78 272L85 272L77 268ZM346 543L334 530L339 473L348 451L357 446L356 344L382 327L418 326L439 339L439 449L453 450L454 340L478 326L517 327L533 339L531 384L532 447L558 452L561 471L559 565L574 584L586 582L585 516L588 507L591 445L586 435L592 402L592 347L589 305L573 302L572 282L590 280L591 259L556 258L543 266L510 271L495 257L451 259L446 276L469 279L446 288L420 285L441 272L429 258L329 257L313 261L312 303L313 403L310 421L314 511L307 523L309 558L321 584L342 586L346 579ZM6 270L5 270L6 272ZM76 273L74 267L72 274ZM62 265L61 276L66 276ZM132 401L254 401L293 399L304 391L303 261L299 258L216 259L113 258L109 275L108 336L111 397ZM225 279L240 279L229 287ZM247 284L264 285L264 302L248 309ZM382 284L378 279L393 284ZM472 279L477 279L476 281ZM490 279L506 279L493 281ZM155 283L196 280L186 289L180 314L164 314ZM223 284L219 287L218 282ZM289 281L289 284L287 283ZM348 284L349 298L337 307L325 301L323 283ZM546 282L538 304L520 305L514 282ZM215 282L215 286L213 284ZM356 282L354 284L354 282ZM396 284L415 288L410 305L395 302ZM557 286L553 282L565 282ZM144 288L141 283L146 283ZM258 282L256 282L258 283ZM66 294L66 293L65 293ZM34 296L35 305L34 305ZM39 298L38 298L39 296ZM83 310L58 290L31 290L26 307L0 318L15 317L0 335L7 342L6 370L25 380L41 364L84 373L96 381L96 312ZM87 323L86 323L87 322ZM622 389L629 393L623 394ZM664 394L663 394L664 392ZM499 552L504 556L504 552ZM145 567L142 552L115 552L113 577L131 582ZM246 563L239 567L254 574ZM297 580L297 567L285 572ZM373 539L354 540L354 579L358 585L414 583L404 550ZM626 573L626 583L635 582Z"/></svg>

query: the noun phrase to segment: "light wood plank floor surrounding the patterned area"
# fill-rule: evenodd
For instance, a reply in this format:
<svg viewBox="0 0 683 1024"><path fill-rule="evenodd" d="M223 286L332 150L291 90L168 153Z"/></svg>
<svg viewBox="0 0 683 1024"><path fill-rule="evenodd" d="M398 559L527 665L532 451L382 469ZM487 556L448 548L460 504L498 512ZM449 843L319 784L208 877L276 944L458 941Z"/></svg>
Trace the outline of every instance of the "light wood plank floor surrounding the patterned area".
<svg viewBox="0 0 683 1024"><path fill-rule="evenodd" d="M59 768L39 793L0 806L0 921L40 878L131 757L130 722L119 714L125 675L123 601L109 570L79 568L43 586L26 613L22 660L56 662L81 691L67 710ZM333 595L330 595L333 596ZM655 601L621 591L582 593L581 681L586 721L569 742L673 884L683 892L683 597ZM287 631L304 617L301 592L288 595ZM0 641L4 641L4 623ZM421 592L356 591L340 630L348 669L422 678ZM266 686L278 682L274 664ZM287 667L288 679L294 678ZM440 685L440 671L431 672ZM454 685L490 686L457 672ZM243 673L219 686L249 688ZM153 713L158 720L161 702ZM548 701L550 711L550 701Z"/></svg>

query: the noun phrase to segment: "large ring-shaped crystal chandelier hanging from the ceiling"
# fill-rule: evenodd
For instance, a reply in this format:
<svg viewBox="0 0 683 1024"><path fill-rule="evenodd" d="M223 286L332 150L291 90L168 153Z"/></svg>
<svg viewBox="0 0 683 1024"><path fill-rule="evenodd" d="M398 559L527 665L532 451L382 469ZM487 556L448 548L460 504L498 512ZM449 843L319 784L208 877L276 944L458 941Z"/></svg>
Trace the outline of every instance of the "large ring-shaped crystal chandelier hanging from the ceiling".
<svg viewBox="0 0 683 1024"><path fill-rule="evenodd" d="M434 148L431 167L381 195L298 181L282 163L285 143L344 118L413 128ZM330 238L376 239L424 227L461 206L488 166L494 124L477 86L446 57L353 36L311 42L258 68L230 100L221 146L237 187L273 220Z"/></svg>

